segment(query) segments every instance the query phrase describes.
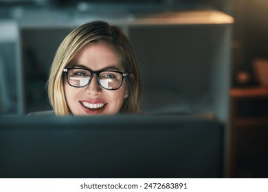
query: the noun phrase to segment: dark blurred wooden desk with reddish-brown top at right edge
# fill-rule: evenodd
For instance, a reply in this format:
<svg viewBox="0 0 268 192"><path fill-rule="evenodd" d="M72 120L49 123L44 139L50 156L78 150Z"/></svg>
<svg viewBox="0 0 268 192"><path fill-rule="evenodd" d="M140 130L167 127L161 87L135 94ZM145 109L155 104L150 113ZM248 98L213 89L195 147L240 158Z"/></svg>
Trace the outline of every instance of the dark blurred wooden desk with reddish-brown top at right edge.
<svg viewBox="0 0 268 192"><path fill-rule="evenodd" d="M231 178L268 176L268 88L232 88Z"/></svg>

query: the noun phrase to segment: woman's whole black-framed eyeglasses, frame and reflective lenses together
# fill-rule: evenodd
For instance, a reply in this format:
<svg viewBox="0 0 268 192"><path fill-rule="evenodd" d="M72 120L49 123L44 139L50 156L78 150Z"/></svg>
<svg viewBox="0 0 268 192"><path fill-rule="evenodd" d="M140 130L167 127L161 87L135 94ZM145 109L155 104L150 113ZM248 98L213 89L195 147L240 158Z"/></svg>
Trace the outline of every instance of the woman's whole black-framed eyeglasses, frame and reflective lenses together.
<svg viewBox="0 0 268 192"><path fill-rule="evenodd" d="M129 75L129 73L120 71L90 71L83 68L65 68L63 72L66 73L67 81L70 86L87 86L91 82L93 75L96 75L100 86L108 90L120 88L124 77Z"/></svg>

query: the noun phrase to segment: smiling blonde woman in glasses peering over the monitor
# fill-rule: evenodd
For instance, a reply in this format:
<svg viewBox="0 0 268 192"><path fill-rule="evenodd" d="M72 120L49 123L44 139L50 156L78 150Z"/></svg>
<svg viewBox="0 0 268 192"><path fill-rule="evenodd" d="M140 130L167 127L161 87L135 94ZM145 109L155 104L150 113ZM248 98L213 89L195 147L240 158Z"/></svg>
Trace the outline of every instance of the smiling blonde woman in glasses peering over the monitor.
<svg viewBox="0 0 268 192"><path fill-rule="evenodd" d="M140 112L142 79L129 40L102 21L81 25L63 40L47 86L56 115Z"/></svg>

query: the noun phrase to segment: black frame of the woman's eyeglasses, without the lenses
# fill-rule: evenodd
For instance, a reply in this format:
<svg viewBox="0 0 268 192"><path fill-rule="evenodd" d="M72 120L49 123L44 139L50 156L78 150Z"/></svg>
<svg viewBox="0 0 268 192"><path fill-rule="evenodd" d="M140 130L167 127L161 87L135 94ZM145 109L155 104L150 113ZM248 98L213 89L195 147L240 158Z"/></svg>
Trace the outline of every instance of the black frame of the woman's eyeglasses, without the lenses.
<svg viewBox="0 0 268 192"><path fill-rule="evenodd" d="M82 69L82 70L85 70L85 71L89 71L91 73L91 77L89 78L89 82L87 82L87 84L85 84L84 86L74 86L74 85L71 85L69 83L69 78L68 78L68 73L71 69ZM96 75L97 76L97 80L98 80L98 84L102 87L102 88L105 88L104 86L102 86L102 84L100 83L100 78L99 78L99 75L100 73L102 72L115 72L115 73L120 73L120 75L122 75L122 80L120 82L120 85L118 86L118 88L120 88L122 86L122 83L123 83L123 80L124 80L124 77L128 76L129 73L124 73L122 71L113 71L113 70L104 70L104 71L90 71L89 69L85 69L85 68L79 68L79 67L71 67L71 68L65 68L63 69L63 73L66 73L66 77L67 77L67 82L69 84L69 86L73 86L73 87L76 87L76 88L82 88L82 87L85 87L85 86L88 86L91 82L91 80L93 79L93 75ZM111 89L111 88L105 88L107 90L110 90L110 91L115 91L115 90L118 90L118 88L114 88L114 89Z"/></svg>

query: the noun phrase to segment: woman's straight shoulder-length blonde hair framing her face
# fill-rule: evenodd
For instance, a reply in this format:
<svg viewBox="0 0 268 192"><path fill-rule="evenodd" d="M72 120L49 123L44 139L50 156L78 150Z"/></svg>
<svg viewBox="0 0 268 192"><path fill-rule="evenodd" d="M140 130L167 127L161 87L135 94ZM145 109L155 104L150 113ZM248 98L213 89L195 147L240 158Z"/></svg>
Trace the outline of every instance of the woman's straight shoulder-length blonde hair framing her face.
<svg viewBox="0 0 268 192"><path fill-rule="evenodd" d="M85 45L98 42L111 45L120 56L122 66L126 72L131 73L126 77L129 96L124 99L120 112L123 114L137 114L140 112L142 78L128 38L119 27L109 25L103 21L94 21L74 29L65 37L56 51L47 82L49 102L56 115L71 114L65 98L63 69L71 60L74 60Z"/></svg>

